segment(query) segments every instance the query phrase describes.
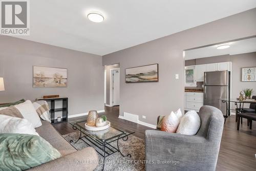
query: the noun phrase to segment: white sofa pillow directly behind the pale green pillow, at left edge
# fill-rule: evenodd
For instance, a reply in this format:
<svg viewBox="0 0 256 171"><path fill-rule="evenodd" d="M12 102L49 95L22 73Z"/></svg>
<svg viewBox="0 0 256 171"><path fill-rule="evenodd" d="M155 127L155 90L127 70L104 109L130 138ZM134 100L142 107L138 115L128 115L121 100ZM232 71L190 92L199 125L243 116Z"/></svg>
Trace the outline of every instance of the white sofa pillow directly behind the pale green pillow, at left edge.
<svg viewBox="0 0 256 171"><path fill-rule="evenodd" d="M2 133L38 135L32 123L27 119L7 115L0 115L0 134Z"/></svg>

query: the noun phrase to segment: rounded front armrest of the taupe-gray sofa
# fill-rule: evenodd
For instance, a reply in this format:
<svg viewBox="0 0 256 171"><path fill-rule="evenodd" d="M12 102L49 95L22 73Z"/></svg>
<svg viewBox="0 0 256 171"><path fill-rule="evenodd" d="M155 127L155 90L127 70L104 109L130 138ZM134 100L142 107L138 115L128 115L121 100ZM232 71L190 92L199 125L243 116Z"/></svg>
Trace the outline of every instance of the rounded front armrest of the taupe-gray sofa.
<svg viewBox="0 0 256 171"><path fill-rule="evenodd" d="M30 171L70 171L94 170L98 165L98 154L92 147L83 148L81 151L71 153L56 160L41 164L29 169Z"/></svg>

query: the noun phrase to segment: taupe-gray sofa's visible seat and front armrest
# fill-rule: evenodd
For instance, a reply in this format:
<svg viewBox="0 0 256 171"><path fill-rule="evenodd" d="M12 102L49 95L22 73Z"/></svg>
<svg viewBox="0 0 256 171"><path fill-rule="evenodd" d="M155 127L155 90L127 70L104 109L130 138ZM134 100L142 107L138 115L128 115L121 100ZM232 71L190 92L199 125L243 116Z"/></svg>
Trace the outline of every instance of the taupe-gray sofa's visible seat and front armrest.
<svg viewBox="0 0 256 171"><path fill-rule="evenodd" d="M47 121L42 121L42 126L36 128L36 132L56 148L62 157L29 170L84 171L94 170L96 168L98 155L94 148L86 147L81 151L77 151L54 129L52 124Z"/></svg>

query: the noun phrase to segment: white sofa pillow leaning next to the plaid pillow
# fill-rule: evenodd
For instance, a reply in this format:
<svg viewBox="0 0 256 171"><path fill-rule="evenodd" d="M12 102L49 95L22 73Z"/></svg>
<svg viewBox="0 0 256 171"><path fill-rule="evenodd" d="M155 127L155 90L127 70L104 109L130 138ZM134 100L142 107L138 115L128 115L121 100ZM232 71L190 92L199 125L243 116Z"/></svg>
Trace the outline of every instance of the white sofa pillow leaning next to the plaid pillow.
<svg viewBox="0 0 256 171"><path fill-rule="evenodd" d="M41 120L30 100L14 105L14 107L17 108L25 119L32 123L33 127L39 127L42 125Z"/></svg>

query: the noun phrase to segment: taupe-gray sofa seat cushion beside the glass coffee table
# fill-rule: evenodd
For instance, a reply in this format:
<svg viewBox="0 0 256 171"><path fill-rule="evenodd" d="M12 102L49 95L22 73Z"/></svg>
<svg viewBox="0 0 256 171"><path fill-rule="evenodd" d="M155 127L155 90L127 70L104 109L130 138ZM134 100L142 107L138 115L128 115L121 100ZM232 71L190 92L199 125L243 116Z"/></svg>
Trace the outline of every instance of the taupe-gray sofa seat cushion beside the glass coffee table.
<svg viewBox="0 0 256 171"><path fill-rule="evenodd" d="M54 148L56 148L62 156L74 153L77 150L64 139L48 121L42 120L42 125L35 130L46 141L48 141ZM67 123L68 124L68 123ZM77 137L78 138L78 137Z"/></svg>

